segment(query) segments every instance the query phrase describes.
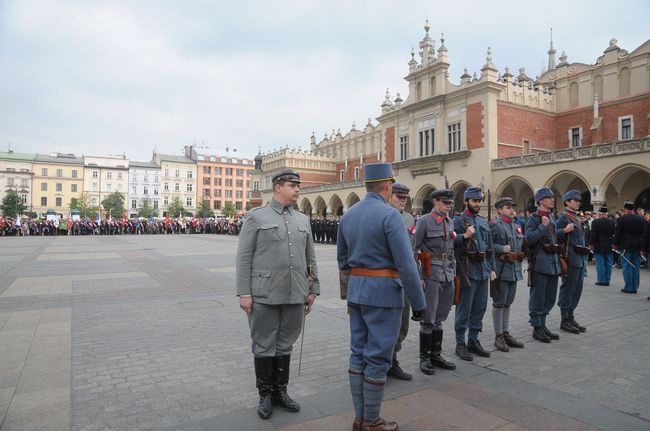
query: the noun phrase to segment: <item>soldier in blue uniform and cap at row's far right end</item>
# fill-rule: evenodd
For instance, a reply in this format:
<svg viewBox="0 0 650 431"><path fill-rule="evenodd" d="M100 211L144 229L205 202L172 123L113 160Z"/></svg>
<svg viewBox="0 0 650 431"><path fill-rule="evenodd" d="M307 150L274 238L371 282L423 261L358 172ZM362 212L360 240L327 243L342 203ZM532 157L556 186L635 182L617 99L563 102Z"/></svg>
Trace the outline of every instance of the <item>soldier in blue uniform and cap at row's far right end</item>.
<svg viewBox="0 0 650 431"><path fill-rule="evenodd" d="M587 328L576 322L573 313L582 296L582 286L587 266L589 249L585 245L585 234L578 211L582 195L578 190L569 190L562 196L564 212L557 220L557 238L563 244L568 258L568 271L562 277L558 307L562 316L560 329L572 334L585 332Z"/></svg>

